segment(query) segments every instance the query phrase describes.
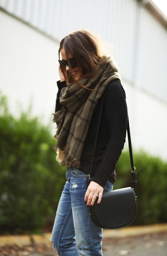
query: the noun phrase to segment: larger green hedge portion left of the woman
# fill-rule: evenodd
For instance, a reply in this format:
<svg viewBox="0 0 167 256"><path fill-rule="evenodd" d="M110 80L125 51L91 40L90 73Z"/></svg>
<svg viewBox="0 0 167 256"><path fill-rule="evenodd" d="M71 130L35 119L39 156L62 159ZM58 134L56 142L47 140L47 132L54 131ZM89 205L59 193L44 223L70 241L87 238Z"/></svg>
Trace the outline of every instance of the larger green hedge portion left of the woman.
<svg viewBox="0 0 167 256"><path fill-rule="evenodd" d="M56 162L49 127L0 102L0 232L35 231L53 223L66 168ZM0 234L1 234L0 233Z"/></svg>

